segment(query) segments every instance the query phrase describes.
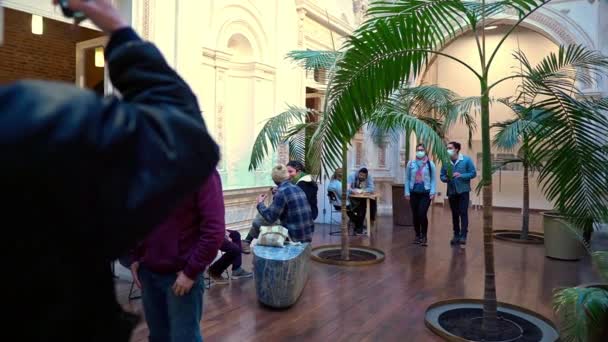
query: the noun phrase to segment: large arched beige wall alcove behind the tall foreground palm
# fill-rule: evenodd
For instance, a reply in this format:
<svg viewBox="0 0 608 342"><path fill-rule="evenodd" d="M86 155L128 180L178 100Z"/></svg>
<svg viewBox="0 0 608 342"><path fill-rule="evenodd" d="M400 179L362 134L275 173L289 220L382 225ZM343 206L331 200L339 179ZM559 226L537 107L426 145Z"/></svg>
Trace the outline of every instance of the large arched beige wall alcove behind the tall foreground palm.
<svg viewBox="0 0 608 342"><path fill-rule="evenodd" d="M492 52L501 38L511 28L510 25L495 25L495 28L487 29L486 46L488 53ZM513 57L513 53L521 50L528 57L532 65L539 63L550 52L556 52L558 45L544 33L537 32L527 27L517 28L503 43L492 63L489 77L490 83L513 75L522 67ZM454 56L477 70L481 70L475 34L468 32L454 39L442 52ZM443 56L432 60L423 76L418 80L419 84L436 84L448 88L463 97L479 96L479 80L461 64ZM493 99L513 97L517 93L517 87L521 85L520 79L512 79L496 86L491 93ZM505 121L512 118L509 108L499 102L493 102L491 107L491 123ZM481 126L481 118L476 116L477 127ZM481 132L477 129L473 134L472 147L467 146L468 129L463 124L456 124L447 134L452 141L462 143L463 152L473 158L478 171L481 162ZM515 158L510 156L515 152L499 151L492 149L495 158ZM478 177L475 183L479 181ZM494 176L494 205L498 207L521 208L522 205L522 178L523 173L519 166L512 165L507 170ZM444 189L442 189L444 190ZM442 191L443 192L443 191ZM471 193L474 204L481 204L480 196ZM535 181L530 182L530 201L532 208L550 209L551 204L545 199L542 191L537 187Z"/></svg>

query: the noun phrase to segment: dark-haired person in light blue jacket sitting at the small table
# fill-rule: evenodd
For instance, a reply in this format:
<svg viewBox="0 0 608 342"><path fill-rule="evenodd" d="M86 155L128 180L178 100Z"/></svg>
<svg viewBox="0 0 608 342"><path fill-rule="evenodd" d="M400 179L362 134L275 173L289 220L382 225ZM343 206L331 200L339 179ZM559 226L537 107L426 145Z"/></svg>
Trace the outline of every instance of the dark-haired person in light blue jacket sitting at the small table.
<svg viewBox="0 0 608 342"><path fill-rule="evenodd" d="M356 173L348 177L348 192L349 196L356 193L373 193L374 179L369 174L366 168L361 168ZM351 220L355 224L355 234L363 234L363 222L365 221L365 213L367 211L367 200L362 198L350 198L351 205ZM376 220L377 203L376 200L370 200L370 219ZM369 229L369 227L367 227Z"/></svg>

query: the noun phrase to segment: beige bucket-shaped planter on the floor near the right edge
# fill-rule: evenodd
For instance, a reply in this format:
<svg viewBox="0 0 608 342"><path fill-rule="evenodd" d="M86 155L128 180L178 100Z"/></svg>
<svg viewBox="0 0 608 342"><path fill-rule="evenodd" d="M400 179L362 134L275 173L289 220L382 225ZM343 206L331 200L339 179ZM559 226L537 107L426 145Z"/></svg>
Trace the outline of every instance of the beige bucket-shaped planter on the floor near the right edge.
<svg viewBox="0 0 608 342"><path fill-rule="evenodd" d="M543 212L545 255L558 260L579 260L586 250L581 241L568 227L565 218L556 212Z"/></svg>

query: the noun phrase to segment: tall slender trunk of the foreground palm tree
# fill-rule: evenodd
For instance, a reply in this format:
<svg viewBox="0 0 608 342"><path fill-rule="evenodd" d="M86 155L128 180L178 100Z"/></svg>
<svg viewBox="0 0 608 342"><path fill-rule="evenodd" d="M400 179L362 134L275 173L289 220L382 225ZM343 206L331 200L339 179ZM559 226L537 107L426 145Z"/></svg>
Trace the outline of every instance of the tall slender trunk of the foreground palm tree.
<svg viewBox="0 0 608 342"><path fill-rule="evenodd" d="M481 142L483 182L483 246L485 282L482 330L487 339L498 335L496 278L494 274L494 239L492 238L492 158L490 153L490 98L487 74L481 85Z"/></svg>

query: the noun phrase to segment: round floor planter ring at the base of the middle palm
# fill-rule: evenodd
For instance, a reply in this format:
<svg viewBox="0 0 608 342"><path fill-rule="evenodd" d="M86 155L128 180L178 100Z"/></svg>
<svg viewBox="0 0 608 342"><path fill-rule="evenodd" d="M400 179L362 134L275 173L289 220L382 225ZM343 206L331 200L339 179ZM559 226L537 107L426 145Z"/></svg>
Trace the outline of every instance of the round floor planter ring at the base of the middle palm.
<svg viewBox="0 0 608 342"><path fill-rule="evenodd" d="M312 249L314 261L338 266L367 266L384 261L384 252L373 247L349 246L350 260L342 259L341 245L324 245Z"/></svg>

